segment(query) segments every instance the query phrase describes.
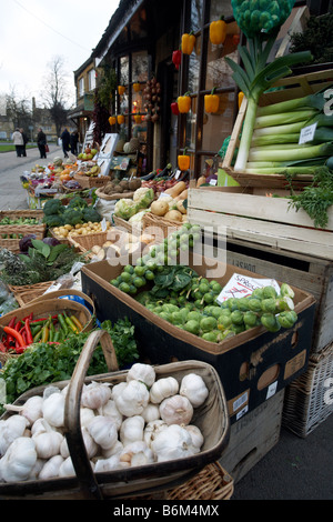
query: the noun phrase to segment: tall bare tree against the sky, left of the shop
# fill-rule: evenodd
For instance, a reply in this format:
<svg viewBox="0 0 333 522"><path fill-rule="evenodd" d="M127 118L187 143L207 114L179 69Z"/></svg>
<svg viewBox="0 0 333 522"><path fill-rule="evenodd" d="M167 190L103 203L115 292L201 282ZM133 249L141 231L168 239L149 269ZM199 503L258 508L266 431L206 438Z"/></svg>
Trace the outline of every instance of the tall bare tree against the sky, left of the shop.
<svg viewBox="0 0 333 522"><path fill-rule="evenodd" d="M57 129L57 135L60 137L61 127L67 123L67 114L70 108L68 74L64 70L62 57L53 57L48 63L48 73L41 99L46 108L49 109Z"/></svg>

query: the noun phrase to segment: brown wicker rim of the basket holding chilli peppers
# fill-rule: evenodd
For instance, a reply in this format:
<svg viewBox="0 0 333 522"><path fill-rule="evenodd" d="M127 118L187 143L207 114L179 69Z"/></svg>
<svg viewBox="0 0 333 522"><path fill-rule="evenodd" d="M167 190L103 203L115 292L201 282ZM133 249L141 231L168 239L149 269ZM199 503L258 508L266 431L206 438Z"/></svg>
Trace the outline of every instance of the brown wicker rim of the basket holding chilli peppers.
<svg viewBox="0 0 333 522"><path fill-rule="evenodd" d="M74 315L81 323L82 331L90 331L93 325L94 304L92 300L79 290L57 290L47 293L31 301L29 304L6 313L0 318L1 337L3 328L8 327L10 321L16 318L17 321L23 321L32 313L32 321L42 318L50 318L58 314ZM3 365L11 358L20 357L14 351L0 352L0 363Z"/></svg>

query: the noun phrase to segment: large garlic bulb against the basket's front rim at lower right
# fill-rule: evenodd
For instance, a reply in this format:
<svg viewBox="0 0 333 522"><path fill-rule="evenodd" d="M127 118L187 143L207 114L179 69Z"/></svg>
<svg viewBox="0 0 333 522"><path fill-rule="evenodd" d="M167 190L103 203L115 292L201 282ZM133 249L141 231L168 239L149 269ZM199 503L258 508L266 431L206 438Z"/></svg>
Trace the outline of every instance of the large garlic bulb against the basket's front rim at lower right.
<svg viewBox="0 0 333 522"><path fill-rule="evenodd" d="M151 449L158 462L182 459L196 453L190 433L179 424L171 424L157 434Z"/></svg>

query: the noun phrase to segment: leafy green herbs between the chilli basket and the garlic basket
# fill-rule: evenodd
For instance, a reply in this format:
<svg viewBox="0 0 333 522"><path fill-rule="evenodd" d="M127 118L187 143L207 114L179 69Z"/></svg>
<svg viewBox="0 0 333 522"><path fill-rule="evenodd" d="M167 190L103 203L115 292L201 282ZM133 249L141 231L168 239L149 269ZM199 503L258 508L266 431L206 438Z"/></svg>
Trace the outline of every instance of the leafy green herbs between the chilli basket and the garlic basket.
<svg viewBox="0 0 333 522"><path fill-rule="evenodd" d="M113 324L111 321L104 321L101 327L111 335L119 368L139 358L134 327L128 318L120 319ZM19 358L9 359L1 374L6 381L6 401L12 403L31 388L70 380L90 333L72 333L59 345L32 344ZM105 372L108 367L103 351L98 347L92 354L87 374L98 375Z"/></svg>

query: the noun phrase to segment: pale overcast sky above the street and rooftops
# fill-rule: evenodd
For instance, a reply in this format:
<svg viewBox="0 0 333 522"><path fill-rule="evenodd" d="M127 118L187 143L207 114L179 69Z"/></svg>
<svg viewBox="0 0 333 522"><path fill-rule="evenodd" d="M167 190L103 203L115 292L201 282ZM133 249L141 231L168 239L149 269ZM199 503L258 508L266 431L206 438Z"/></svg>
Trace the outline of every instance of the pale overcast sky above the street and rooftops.
<svg viewBox="0 0 333 522"><path fill-rule="evenodd" d="M48 63L64 61L74 100L73 71L97 47L119 0L1 0L0 94L40 100Z"/></svg>

